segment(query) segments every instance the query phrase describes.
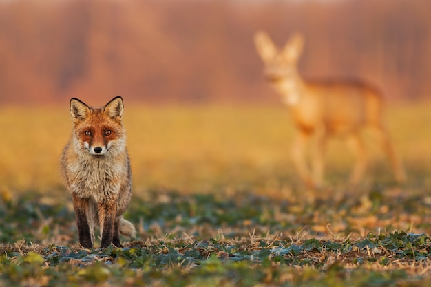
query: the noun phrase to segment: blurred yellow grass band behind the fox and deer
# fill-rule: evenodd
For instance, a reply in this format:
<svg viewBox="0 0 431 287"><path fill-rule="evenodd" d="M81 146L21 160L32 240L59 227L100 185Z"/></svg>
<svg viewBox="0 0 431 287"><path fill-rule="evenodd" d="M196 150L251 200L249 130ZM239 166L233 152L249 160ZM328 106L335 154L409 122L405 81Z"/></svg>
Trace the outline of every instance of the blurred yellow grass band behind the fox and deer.
<svg viewBox="0 0 431 287"><path fill-rule="evenodd" d="M127 105L125 127L138 193L301 189L289 158L293 125L284 107L271 105ZM430 103L390 105L386 114L412 188L430 186ZM1 188L63 192L59 156L72 130L67 107L1 107ZM379 149L364 182L390 182ZM328 186L344 183L351 156L339 140L328 148Z"/></svg>

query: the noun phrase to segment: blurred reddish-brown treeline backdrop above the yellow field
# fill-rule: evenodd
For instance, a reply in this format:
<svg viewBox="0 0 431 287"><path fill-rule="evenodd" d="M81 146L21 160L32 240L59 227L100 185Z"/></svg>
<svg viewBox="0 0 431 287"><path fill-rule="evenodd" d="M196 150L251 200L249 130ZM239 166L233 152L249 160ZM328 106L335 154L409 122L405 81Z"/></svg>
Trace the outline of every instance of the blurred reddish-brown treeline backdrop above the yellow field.
<svg viewBox="0 0 431 287"><path fill-rule="evenodd" d="M389 99L426 98L430 11L430 0L0 0L0 103L277 100L257 29L280 46L303 32L307 78L362 78Z"/></svg>

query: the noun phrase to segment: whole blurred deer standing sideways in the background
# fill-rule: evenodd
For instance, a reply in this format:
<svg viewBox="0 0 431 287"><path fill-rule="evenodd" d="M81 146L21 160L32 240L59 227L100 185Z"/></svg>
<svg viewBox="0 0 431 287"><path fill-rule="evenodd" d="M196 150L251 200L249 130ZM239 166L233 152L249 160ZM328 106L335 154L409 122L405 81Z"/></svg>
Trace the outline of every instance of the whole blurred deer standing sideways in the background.
<svg viewBox="0 0 431 287"><path fill-rule="evenodd" d="M304 80L297 68L304 47L304 36L300 32L294 32L282 49L262 30L255 32L254 42L264 63L264 78L291 111L296 134L291 157L306 186L322 187L326 141L337 135L344 138L355 158L348 182L353 185L361 182L368 163L361 138L364 128L377 135L375 138L390 160L395 179L406 180L401 160L382 123L383 94L379 89L359 80ZM312 138L310 170L304 153Z"/></svg>

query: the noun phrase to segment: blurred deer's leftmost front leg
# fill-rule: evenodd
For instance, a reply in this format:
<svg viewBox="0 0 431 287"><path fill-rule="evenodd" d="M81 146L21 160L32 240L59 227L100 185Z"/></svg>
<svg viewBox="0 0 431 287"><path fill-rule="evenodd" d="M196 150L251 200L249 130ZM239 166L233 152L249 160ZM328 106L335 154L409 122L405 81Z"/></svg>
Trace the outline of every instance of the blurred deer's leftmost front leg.
<svg viewBox="0 0 431 287"><path fill-rule="evenodd" d="M308 187L314 188L315 183L311 178L310 171L307 167L306 158L305 158L305 148L306 148L306 145L308 144L308 140L309 140L308 134L302 131L299 131L292 145L291 156L301 180Z"/></svg>

